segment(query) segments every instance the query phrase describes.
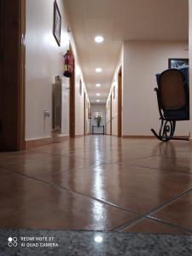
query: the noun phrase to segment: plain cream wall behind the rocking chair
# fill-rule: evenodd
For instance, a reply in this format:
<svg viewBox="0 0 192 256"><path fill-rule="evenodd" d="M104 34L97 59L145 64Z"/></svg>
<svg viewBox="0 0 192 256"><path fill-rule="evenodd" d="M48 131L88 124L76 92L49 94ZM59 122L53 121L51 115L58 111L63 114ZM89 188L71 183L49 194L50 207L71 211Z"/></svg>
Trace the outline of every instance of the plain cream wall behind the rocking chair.
<svg viewBox="0 0 192 256"><path fill-rule="evenodd" d="M187 42L127 41L123 54L123 135L152 135L159 129L155 74L168 58L188 58ZM176 134L189 135L189 122L177 122Z"/></svg>

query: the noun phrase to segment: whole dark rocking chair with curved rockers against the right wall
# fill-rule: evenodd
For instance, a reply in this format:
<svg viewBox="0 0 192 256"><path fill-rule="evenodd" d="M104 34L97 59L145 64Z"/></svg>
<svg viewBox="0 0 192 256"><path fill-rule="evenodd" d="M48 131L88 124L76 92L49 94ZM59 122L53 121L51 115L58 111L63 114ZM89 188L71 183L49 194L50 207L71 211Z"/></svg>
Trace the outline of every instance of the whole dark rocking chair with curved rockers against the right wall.
<svg viewBox="0 0 192 256"><path fill-rule="evenodd" d="M189 140L184 137L174 137L177 121L189 120L189 79L186 70L172 68L157 74L158 108L160 112L159 134L151 129L160 141Z"/></svg>

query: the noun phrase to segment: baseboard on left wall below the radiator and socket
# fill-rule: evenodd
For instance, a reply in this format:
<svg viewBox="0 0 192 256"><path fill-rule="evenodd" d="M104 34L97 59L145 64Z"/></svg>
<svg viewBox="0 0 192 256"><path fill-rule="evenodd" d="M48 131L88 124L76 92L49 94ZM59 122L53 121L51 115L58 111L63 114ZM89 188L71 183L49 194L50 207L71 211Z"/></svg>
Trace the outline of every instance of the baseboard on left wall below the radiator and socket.
<svg viewBox="0 0 192 256"><path fill-rule="evenodd" d="M27 140L26 149L38 148L51 143L62 143L66 139L68 139L68 136L44 137L41 139Z"/></svg>

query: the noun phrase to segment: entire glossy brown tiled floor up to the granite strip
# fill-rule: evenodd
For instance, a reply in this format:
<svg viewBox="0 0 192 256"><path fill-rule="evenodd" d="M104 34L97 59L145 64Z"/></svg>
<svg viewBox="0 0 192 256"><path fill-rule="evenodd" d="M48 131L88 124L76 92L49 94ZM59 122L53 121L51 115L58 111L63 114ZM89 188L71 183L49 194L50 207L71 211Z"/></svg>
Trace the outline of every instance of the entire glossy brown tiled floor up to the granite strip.
<svg viewBox="0 0 192 256"><path fill-rule="evenodd" d="M192 145L80 137L0 154L0 228L192 234Z"/></svg>

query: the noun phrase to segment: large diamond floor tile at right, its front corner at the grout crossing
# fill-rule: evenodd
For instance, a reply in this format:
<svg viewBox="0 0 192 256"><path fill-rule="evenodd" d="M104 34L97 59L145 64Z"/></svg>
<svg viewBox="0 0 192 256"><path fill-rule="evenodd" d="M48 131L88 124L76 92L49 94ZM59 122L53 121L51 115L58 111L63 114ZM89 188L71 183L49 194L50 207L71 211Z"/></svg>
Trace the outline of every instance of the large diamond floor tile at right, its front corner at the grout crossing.
<svg viewBox="0 0 192 256"><path fill-rule="evenodd" d="M192 188L192 176L120 164L38 177L137 213L150 212Z"/></svg>

